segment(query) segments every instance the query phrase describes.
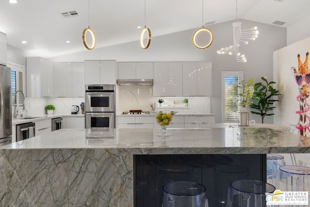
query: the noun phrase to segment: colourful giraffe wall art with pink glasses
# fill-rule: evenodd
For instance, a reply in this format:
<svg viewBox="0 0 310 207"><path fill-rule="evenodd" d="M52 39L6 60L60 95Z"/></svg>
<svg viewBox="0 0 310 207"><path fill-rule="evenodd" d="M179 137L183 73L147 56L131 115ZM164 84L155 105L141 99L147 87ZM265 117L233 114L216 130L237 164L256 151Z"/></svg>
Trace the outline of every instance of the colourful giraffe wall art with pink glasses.
<svg viewBox="0 0 310 207"><path fill-rule="evenodd" d="M299 130L299 134L303 136L307 136L307 130L310 132L310 117L307 115L307 112L310 109L309 103L307 103L307 98L310 95L310 70L308 67L308 56L309 52L306 54L305 62L302 63L300 60L300 55L298 54L298 70L296 70L295 67L291 67L295 82L299 89L299 95L296 97L299 102L299 110L296 111L296 114L299 115L298 126L296 126L296 128Z"/></svg>

